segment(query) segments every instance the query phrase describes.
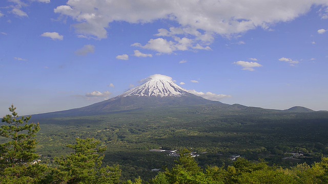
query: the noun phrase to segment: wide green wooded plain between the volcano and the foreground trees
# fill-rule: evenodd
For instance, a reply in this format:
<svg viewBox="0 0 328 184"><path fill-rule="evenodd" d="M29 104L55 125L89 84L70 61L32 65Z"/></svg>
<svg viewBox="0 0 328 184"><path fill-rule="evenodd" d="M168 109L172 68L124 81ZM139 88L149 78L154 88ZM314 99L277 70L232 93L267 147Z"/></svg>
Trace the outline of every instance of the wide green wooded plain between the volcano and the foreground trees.
<svg viewBox="0 0 328 184"><path fill-rule="evenodd" d="M211 109L211 110L209 110ZM104 163L118 164L122 178L150 179L151 169L172 167L177 158L150 149L187 148L200 154L202 168L233 164L232 154L270 165L292 167L328 154L327 112L218 113L215 107L151 108L101 116L39 119L38 153L44 162L71 152L76 137L94 137L107 146ZM216 112L216 113L214 113ZM35 119L32 119L36 121ZM290 152L308 157L283 159Z"/></svg>

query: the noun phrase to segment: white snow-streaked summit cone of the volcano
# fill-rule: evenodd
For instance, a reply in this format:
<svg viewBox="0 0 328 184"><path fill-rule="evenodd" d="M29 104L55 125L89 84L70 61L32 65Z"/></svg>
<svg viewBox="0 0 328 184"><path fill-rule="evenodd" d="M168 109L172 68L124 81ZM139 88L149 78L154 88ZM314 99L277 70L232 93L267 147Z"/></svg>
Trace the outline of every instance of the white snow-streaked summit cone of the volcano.
<svg viewBox="0 0 328 184"><path fill-rule="evenodd" d="M128 90L121 96L156 96L156 97L180 97L189 94L186 89L176 85L171 77L155 74L150 76L144 84Z"/></svg>

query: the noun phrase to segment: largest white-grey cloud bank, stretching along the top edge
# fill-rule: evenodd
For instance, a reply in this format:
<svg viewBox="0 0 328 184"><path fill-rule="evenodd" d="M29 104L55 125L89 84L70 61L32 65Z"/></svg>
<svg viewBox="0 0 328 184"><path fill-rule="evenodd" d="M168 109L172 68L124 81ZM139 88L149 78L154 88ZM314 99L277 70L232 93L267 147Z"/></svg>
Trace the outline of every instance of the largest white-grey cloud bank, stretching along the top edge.
<svg viewBox="0 0 328 184"><path fill-rule="evenodd" d="M74 25L77 33L92 35L98 39L107 37L106 29L113 21L142 24L159 19L176 21L180 27L170 29L170 31L160 30L158 36L189 34L201 39L202 34L199 35L197 30L208 35L223 36L243 33L257 27L270 30L270 27L277 22L291 21L309 12L312 7L315 7L314 5L325 7L327 3L322 0L269 2L240 0L233 3L217 0L147 2L142 0L69 0L67 5L58 6L55 13L74 19L77 22Z"/></svg>

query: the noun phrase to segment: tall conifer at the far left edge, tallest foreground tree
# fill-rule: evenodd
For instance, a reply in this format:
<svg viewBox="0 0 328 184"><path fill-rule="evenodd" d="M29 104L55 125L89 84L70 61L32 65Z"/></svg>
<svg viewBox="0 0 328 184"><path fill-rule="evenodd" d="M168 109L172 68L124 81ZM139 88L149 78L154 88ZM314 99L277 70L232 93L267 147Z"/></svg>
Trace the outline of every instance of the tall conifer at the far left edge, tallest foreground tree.
<svg viewBox="0 0 328 184"><path fill-rule="evenodd" d="M47 168L35 161L39 157L35 153L36 133L39 124L28 123L31 117L18 117L16 107L11 105L2 122L0 136L7 142L0 144L0 180L3 183L37 182ZM39 168L39 169L36 169ZM31 171L31 172L29 172Z"/></svg>

